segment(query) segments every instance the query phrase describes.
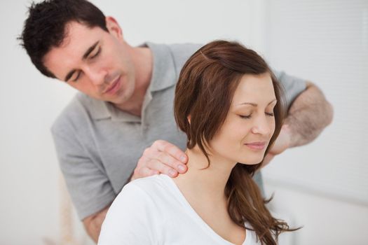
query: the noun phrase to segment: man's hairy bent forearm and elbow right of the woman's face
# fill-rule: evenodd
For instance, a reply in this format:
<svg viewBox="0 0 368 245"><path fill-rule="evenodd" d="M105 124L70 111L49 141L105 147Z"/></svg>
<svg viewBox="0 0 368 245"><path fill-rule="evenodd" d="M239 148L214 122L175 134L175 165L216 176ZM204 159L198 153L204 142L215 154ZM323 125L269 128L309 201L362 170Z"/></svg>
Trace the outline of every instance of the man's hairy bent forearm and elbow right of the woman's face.
<svg viewBox="0 0 368 245"><path fill-rule="evenodd" d="M332 122L332 118L332 105L317 86L307 82L306 90L294 100L285 119L290 131L289 147L313 141Z"/></svg>

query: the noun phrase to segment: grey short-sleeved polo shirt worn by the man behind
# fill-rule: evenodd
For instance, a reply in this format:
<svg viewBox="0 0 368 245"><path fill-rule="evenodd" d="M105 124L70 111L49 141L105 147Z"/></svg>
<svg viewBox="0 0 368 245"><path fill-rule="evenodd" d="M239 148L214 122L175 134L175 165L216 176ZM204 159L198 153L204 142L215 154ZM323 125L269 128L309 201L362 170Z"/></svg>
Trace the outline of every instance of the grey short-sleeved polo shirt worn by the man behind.
<svg viewBox="0 0 368 245"><path fill-rule="evenodd" d="M76 94L51 131L62 173L79 218L107 207L135 169L145 148L157 139L186 148L172 110L179 72L200 45L146 43L154 57L151 83L144 97L142 117ZM276 73L287 102L305 89L305 82Z"/></svg>

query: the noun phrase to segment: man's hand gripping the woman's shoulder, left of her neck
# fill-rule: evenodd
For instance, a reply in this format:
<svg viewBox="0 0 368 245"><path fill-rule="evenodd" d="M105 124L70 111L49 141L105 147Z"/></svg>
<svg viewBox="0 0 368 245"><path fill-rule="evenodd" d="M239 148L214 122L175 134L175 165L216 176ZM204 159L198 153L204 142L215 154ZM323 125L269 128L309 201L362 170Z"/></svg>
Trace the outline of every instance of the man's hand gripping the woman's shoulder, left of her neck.
<svg viewBox="0 0 368 245"><path fill-rule="evenodd" d="M177 146L168 141L157 140L152 146L144 150L131 181L159 173L176 177L178 173L184 174L186 172L187 161L188 157Z"/></svg>

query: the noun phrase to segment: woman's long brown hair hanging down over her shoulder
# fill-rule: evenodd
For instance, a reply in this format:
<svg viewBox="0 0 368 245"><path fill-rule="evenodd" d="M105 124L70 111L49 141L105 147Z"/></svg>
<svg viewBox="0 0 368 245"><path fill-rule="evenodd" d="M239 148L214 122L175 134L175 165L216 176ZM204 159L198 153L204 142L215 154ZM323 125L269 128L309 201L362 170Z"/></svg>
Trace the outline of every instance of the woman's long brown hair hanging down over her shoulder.
<svg viewBox="0 0 368 245"><path fill-rule="evenodd" d="M245 74L269 73L275 97L278 100L273 114L275 132L265 155L278 137L285 118L284 97L275 75L257 52L236 42L213 41L195 52L184 64L175 90L174 113L180 130L186 133L187 148L198 145L206 156L205 148L222 127L231 106L233 94ZM190 123L189 118L190 116ZM287 223L271 216L252 176L261 167L236 164L226 183L228 211L234 223L244 227L250 223L261 244L277 244L281 232L292 231Z"/></svg>

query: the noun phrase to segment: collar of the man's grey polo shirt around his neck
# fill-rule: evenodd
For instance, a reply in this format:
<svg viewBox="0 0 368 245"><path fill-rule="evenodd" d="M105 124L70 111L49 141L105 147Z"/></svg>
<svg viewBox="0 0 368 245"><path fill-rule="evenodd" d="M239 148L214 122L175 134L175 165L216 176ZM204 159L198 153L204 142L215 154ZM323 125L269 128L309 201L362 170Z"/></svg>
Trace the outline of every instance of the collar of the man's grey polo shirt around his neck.
<svg viewBox="0 0 368 245"><path fill-rule="evenodd" d="M144 96L144 104L142 108L142 118L144 117L144 107L149 104L154 92L165 90L165 88L171 87L177 83L177 71L175 69L175 63L170 52L168 45L159 45L155 43L144 43L140 45L142 47L148 47L151 49L153 57L153 71L149 87ZM102 120L111 118L113 121L140 123L142 118L132 115L120 109L117 109L113 104L109 102L102 102L97 99L92 106L93 118L96 120Z"/></svg>

